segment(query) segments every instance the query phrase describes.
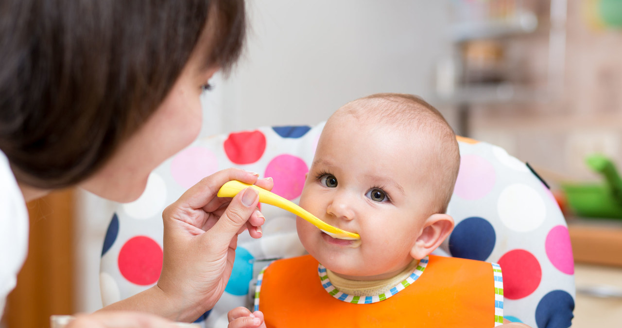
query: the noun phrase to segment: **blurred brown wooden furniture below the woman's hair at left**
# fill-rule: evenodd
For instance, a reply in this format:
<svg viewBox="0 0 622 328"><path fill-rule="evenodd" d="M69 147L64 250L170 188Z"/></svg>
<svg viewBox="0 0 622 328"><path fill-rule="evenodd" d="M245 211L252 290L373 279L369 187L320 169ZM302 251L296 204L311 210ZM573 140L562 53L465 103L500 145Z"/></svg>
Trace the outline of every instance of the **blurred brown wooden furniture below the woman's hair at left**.
<svg viewBox="0 0 622 328"><path fill-rule="evenodd" d="M26 263L9 294L6 328L50 326L50 315L73 312L73 195L53 192L28 204Z"/></svg>

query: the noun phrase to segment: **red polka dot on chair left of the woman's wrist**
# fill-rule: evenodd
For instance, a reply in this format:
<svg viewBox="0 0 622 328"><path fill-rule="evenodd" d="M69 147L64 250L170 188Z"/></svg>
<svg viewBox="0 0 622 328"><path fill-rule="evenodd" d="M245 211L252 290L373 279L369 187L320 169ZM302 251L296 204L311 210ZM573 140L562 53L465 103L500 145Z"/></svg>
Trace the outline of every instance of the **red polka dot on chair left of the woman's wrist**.
<svg viewBox="0 0 622 328"><path fill-rule="evenodd" d="M149 237L131 238L119 251L119 271L134 284L156 283L162 271L162 248Z"/></svg>

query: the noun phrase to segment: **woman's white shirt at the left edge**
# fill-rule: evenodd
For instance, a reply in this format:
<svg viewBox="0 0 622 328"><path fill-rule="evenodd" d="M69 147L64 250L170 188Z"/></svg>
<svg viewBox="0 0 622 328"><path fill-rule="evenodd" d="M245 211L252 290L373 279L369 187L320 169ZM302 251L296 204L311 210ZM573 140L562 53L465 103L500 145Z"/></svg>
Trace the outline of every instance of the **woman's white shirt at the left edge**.
<svg viewBox="0 0 622 328"><path fill-rule="evenodd" d="M28 252L28 211L4 152L0 151L0 316Z"/></svg>

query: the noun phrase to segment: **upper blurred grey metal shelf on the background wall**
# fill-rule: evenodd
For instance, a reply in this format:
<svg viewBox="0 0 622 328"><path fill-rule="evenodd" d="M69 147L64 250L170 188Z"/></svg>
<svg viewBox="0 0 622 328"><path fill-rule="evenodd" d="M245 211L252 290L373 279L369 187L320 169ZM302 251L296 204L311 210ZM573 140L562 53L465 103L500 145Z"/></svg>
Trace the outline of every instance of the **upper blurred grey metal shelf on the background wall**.
<svg viewBox="0 0 622 328"><path fill-rule="evenodd" d="M521 12L513 17L489 21L463 22L452 26L451 37L454 42L475 39L491 39L516 34L529 34L538 26L533 12Z"/></svg>

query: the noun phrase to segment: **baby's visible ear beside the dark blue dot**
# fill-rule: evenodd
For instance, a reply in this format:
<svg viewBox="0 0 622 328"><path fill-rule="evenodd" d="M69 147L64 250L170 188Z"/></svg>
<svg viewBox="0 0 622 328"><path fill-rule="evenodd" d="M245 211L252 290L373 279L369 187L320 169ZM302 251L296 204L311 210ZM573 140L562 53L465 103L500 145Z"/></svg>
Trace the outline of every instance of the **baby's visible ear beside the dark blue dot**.
<svg viewBox="0 0 622 328"><path fill-rule="evenodd" d="M429 255L437 247L443 243L443 240L449 236L453 230L453 218L447 214L432 214L425 220L424 229L421 235L412 246L411 256L417 260L421 260Z"/></svg>

